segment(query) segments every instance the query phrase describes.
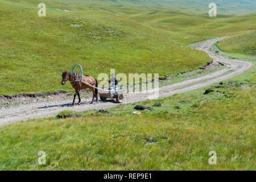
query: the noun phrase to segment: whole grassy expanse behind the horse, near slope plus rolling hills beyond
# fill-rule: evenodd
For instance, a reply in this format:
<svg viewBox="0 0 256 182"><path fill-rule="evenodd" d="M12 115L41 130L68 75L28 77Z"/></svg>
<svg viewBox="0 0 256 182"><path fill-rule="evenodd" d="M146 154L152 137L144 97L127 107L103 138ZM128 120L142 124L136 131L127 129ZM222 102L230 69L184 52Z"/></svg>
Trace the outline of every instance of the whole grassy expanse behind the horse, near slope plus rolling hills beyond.
<svg viewBox="0 0 256 182"><path fill-rule="evenodd" d="M0 95L70 91L60 85L61 73L76 63L94 77L110 68L160 76L184 72L210 61L185 44L255 30L255 14L209 18L170 6L87 1L46 1L47 16L39 18L39 2L0 1Z"/></svg>

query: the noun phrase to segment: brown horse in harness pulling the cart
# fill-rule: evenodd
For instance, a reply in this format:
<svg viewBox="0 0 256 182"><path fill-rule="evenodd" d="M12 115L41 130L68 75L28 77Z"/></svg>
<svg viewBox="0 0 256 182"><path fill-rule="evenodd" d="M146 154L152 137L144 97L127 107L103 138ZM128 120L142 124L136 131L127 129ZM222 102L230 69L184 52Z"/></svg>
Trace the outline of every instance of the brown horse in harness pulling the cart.
<svg viewBox="0 0 256 182"><path fill-rule="evenodd" d="M63 72L61 84L64 85L66 81L69 81L71 83L71 85L73 86L73 88L76 90L72 105L75 105L76 95L79 96L79 102L77 104L80 104L81 98L80 98L79 92L81 90L88 89L88 88L90 90L92 90L92 92L93 92L93 99L92 99L91 103L93 103L94 97L96 97L96 101L98 101L98 89L95 89L92 87L92 86L98 87L98 81L96 80L96 78L93 78L88 75L82 76L82 81L88 82L88 84L92 85L92 86L89 86L89 85L86 85L86 84L80 82L81 81L80 74Z"/></svg>

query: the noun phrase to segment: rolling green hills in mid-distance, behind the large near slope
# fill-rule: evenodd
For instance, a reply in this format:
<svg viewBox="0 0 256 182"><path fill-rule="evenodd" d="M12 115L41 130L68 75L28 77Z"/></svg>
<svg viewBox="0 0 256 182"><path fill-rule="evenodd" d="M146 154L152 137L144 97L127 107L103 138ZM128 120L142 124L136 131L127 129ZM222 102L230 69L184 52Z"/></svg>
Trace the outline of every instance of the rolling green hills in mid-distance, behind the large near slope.
<svg viewBox="0 0 256 182"><path fill-rule="evenodd" d="M172 39L182 43L208 39L218 36L228 36L238 32L256 29L256 14L221 15L211 18L204 14L186 14L173 10L151 10L150 13L140 13L129 16L130 19L151 26ZM187 39L184 39L184 36ZM250 40L254 42L255 39Z"/></svg>

